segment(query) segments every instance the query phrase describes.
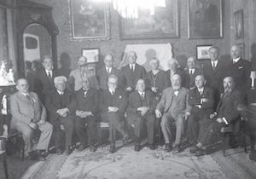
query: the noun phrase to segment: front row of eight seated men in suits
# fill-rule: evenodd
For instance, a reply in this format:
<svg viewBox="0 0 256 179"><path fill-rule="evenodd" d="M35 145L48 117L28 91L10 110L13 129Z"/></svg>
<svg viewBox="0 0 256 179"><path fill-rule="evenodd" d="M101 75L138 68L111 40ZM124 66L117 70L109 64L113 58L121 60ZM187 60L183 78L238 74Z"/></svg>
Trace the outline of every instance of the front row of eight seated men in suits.
<svg viewBox="0 0 256 179"><path fill-rule="evenodd" d="M118 78L108 77L108 89L99 92L90 87L89 78L82 78L82 89L72 93L66 88L67 78L55 77L55 90L46 96L45 107L38 95L28 91L26 79L19 79L15 95L11 96L12 124L19 130L26 143L26 152L32 151L31 135L35 128L41 130L38 150L47 150L49 139L54 131L55 147L61 154L61 131L65 132L66 143L64 153L72 152L73 132L79 137L80 150L87 147L85 123L88 131L90 151L96 151L96 122L99 118L109 124L109 152L115 152L116 132L123 136L124 144L129 139L121 125L127 112L127 122L134 126L135 151L141 149L143 125L148 131L148 147L154 149L154 121L160 120L160 127L165 139L167 152L174 147L181 151L180 145L185 134L185 123L188 121L188 135L191 152L204 154L205 147L212 136L226 124L235 121L239 113L236 106L241 103L241 93L234 90L235 81L231 77L224 78L224 93L220 97L214 118L209 118L214 112L214 97L212 89L205 87L203 75L195 77L195 89L187 90L181 86L179 74L171 77L172 87L163 90L160 101L150 91L146 90L143 79L138 79L136 90L127 95L117 88ZM46 122L46 111L49 123ZM156 118L155 118L156 117ZM161 118L161 119L160 119ZM176 134L173 134L172 124L176 124ZM35 127L36 126L36 127ZM172 136L175 141L172 143Z"/></svg>

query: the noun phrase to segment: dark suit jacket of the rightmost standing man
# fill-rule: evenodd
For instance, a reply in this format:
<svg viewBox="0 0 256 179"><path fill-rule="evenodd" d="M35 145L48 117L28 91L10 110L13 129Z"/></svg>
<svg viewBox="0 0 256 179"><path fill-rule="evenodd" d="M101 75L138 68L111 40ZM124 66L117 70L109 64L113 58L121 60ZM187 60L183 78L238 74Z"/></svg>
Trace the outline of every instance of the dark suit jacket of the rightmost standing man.
<svg viewBox="0 0 256 179"><path fill-rule="evenodd" d="M250 89L251 86L251 70L252 64L250 61L240 59L235 64L230 62L230 75L235 79L236 89L243 94Z"/></svg>

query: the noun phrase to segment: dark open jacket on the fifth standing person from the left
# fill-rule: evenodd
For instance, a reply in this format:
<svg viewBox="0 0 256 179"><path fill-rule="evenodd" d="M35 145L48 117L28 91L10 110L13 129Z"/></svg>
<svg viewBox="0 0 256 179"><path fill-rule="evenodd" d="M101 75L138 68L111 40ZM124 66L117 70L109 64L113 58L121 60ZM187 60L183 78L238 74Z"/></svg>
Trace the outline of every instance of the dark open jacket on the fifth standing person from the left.
<svg viewBox="0 0 256 179"><path fill-rule="evenodd" d="M162 95L163 90L165 90L168 87L168 77L166 75L166 72L160 70L156 74L155 78L155 86L154 86L154 74L152 71L147 73L147 81L146 85L149 90L151 90L152 87L157 88L157 94Z"/></svg>

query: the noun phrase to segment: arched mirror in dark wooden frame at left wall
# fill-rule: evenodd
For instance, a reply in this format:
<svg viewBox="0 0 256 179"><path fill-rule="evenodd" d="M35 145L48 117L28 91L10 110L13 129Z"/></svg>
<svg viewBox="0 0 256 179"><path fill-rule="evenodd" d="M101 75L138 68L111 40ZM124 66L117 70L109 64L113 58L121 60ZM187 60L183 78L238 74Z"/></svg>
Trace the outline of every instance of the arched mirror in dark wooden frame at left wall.
<svg viewBox="0 0 256 179"><path fill-rule="evenodd" d="M40 24L31 24L23 33L23 54L25 61L39 61L45 55L52 56L51 37Z"/></svg>

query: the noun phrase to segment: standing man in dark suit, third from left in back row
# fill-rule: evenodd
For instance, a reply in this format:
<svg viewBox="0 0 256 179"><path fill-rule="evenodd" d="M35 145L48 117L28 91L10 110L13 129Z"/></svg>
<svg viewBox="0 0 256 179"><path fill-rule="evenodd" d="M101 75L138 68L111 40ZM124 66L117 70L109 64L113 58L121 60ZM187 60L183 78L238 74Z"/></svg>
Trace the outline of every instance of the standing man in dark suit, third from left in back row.
<svg viewBox="0 0 256 179"><path fill-rule="evenodd" d="M96 71L96 78L98 79L100 90L108 89L109 75L115 75L119 78L119 70L113 67L113 56L106 55L104 58L105 66Z"/></svg>

